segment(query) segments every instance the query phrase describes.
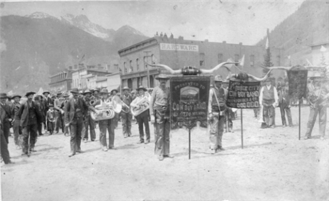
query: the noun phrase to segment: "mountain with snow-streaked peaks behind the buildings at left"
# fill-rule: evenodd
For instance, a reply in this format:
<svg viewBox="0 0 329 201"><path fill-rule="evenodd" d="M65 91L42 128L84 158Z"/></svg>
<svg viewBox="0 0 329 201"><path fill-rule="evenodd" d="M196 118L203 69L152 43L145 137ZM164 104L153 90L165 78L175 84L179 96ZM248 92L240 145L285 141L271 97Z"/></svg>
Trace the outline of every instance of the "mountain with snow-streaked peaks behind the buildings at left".
<svg viewBox="0 0 329 201"><path fill-rule="evenodd" d="M117 71L117 51L145 40L133 27L117 31L91 23L87 16L57 19L43 12L0 17L0 91L23 94L49 88L49 75L82 62Z"/></svg>

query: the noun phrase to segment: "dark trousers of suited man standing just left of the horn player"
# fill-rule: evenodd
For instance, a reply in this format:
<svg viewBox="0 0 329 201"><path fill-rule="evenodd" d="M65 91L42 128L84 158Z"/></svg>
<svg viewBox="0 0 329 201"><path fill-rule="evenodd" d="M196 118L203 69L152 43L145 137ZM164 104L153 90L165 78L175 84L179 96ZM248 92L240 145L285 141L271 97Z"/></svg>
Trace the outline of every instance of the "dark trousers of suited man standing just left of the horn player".
<svg viewBox="0 0 329 201"><path fill-rule="evenodd" d="M76 123L70 124L71 129L71 153L76 154L76 151L81 150L81 132L82 132L83 120L82 117L79 117Z"/></svg>

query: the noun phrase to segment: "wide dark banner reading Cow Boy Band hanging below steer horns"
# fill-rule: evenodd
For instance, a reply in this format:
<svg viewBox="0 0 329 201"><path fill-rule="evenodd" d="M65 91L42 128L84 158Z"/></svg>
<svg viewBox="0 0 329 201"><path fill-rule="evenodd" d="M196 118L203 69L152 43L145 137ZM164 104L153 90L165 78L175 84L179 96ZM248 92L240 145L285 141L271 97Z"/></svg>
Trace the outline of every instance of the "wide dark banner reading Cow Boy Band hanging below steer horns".
<svg viewBox="0 0 329 201"><path fill-rule="evenodd" d="M229 80L226 105L230 108L259 108L260 82Z"/></svg>

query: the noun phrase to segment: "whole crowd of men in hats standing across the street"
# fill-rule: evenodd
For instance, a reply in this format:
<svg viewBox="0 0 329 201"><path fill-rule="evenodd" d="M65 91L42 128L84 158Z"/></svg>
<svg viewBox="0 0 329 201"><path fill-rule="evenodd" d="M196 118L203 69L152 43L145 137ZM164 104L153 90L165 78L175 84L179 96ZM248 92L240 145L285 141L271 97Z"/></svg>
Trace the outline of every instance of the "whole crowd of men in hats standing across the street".
<svg viewBox="0 0 329 201"><path fill-rule="evenodd" d="M170 155L170 91L167 87L169 78L165 75L159 75L156 79L159 81L159 86L156 86L150 95L149 110L145 110L134 118L136 118L139 126L138 143L150 143L149 121L154 124L155 154L159 161L163 161L166 157L173 157ZM313 77L310 80L307 90L308 100L310 101L310 116L304 139L310 139L317 114L319 114L321 139L324 139L329 94L328 83L324 78ZM276 106L280 106L282 126L293 126L288 82L282 83L280 88L275 88L270 78L265 82L266 84L260 89L261 120L264 121L262 127L275 128ZM233 132L232 119L236 115L232 108L226 105L227 84L228 80L223 80L220 75L216 75L209 91L207 112L211 154L225 150L222 144L224 130ZM131 92L130 88L124 87L122 91L122 95L118 94L116 89L109 92L106 88L102 90L87 89L84 92L78 91L78 88L72 88L70 94L60 91L51 94L49 91L44 91L43 95L36 95L34 92L27 92L25 102L21 102L21 95L9 97L5 93L0 93L1 158L3 158L5 164L12 163L8 152L8 137L10 136L11 127L14 132L16 149L21 149L22 155L25 156L30 156L32 152L36 152L34 147L38 136L43 135L43 130L49 132L49 135L61 131L65 136L70 136L71 152L69 157L74 156L77 152L82 153L81 141L87 142L89 136L91 141L95 141L96 124L98 124L100 130L102 151L107 152L115 149L115 129L119 119L121 118L124 137L131 137L133 115L130 108L141 107L138 103L146 96L147 89L139 86L136 91ZM91 118L91 113L100 113L97 106L113 102L118 97L120 97L120 104L122 104L120 114L115 113L112 119L99 121L94 121ZM288 125L285 115L288 117ZM226 124L227 128L225 128ZM106 132L109 133L109 144L106 141Z"/></svg>

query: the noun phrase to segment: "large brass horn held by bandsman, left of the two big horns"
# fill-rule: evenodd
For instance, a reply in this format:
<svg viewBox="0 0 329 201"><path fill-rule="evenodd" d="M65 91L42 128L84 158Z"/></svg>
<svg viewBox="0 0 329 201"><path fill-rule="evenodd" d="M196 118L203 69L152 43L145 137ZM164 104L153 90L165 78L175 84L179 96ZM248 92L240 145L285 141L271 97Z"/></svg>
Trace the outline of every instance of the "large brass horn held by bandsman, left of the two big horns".
<svg viewBox="0 0 329 201"><path fill-rule="evenodd" d="M106 102L100 101L100 105L95 106L96 110L99 110L100 113L95 113L91 111L90 116L93 121L100 121L106 119L113 119L115 113L120 113L122 110L121 99L118 96L114 96L112 101L106 99Z"/></svg>

